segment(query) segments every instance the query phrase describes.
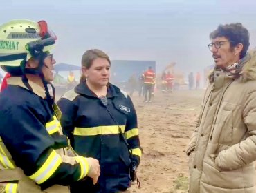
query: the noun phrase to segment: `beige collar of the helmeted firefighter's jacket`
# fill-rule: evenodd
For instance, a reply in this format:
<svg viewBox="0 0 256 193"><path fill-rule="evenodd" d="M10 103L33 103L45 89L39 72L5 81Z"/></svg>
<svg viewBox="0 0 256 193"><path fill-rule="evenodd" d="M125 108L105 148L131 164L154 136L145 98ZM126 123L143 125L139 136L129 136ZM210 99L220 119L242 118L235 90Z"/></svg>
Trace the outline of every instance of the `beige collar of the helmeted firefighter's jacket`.
<svg viewBox="0 0 256 193"><path fill-rule="evenodd" d="M8 85L17 85L21 88L25 88L28 90L26 85L23 83L21 77L10 77L7 79ZM42 99L46 99L46 91L41 86L37 85L36 83L33 83L32 81L28 80L29 85L31 86L33 92L37 94L37 96L40 96Z"/></svg>

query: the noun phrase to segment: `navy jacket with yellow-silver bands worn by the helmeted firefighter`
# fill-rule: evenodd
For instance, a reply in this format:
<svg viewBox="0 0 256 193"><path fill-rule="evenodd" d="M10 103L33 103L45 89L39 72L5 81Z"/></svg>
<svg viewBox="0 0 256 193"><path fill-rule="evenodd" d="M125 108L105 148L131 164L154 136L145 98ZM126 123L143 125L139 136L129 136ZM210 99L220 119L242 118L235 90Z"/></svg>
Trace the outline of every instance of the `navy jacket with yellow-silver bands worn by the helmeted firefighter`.
<svg viewBox="0 0 256 193"><path fill-rule="evenodd" d="M81 156L65 155L68 139L62 135L53 107L44 99L44 89L29 84L33 92L21 77L10 77L8 87L0 93L0 170L20 167L42 189L70 185L86 176L88 167L81 168L88 163Z"/></svg>

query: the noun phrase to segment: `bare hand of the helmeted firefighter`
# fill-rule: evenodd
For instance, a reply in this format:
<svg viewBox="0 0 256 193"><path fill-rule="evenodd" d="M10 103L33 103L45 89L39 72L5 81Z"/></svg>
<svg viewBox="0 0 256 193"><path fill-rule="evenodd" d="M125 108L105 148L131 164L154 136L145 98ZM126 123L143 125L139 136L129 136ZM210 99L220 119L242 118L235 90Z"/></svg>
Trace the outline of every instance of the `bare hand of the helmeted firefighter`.
<svg viewBox="0 0 256 193"><path fill-rule="evenodd" d="M97 159L94 158L86 158L89 164L89 172L87 176L93 179L93 184L95 185L98 181L98 178L100 176L100 164Z"/></svg>

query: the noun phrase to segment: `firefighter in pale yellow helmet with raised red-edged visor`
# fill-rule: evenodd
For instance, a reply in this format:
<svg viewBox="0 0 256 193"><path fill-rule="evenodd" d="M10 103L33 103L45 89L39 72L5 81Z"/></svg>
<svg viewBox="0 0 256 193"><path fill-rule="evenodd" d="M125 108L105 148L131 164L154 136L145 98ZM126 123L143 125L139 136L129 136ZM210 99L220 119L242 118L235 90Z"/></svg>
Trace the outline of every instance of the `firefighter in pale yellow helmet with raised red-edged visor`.
<svg viewBox="0 0 256 193"><path fill-rule="evenodd" d="M11 76L0 93L0 192L69 192L86 176L98 181L98 161L77 156L62 134L51 85L56 39L46 21L0 26L0 65Z"/></svg>

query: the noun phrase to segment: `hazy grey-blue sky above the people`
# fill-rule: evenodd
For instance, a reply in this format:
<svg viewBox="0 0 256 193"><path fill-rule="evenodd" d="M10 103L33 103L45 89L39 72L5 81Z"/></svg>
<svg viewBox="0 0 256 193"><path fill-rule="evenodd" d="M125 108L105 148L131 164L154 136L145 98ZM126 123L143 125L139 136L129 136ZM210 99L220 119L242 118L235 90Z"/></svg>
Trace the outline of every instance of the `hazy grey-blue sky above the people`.
<svg viewBox="0 0 256 193"><path fill-rule="evenodd" d="M155 60L157 70L176 61L179 70L213 63L209 34L220 23L241 22L256 45L255 0L2 1L0 23L46 20L57 34L57 63L80 65L99 48L111 59Z"/></svg>

